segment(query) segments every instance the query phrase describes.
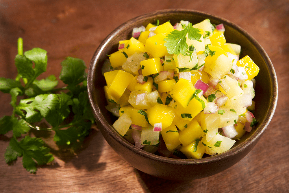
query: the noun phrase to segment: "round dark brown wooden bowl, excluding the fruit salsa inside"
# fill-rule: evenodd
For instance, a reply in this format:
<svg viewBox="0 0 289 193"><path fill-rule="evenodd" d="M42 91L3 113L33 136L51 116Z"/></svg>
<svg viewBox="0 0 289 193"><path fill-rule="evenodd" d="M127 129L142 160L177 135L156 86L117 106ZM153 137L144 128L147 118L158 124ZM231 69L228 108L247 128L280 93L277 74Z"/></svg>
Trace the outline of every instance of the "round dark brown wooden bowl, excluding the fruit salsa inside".
<svg viewBox="0 0 289 193"><path fill-rule="evenodd" d="M116 117L105 109L106 100L103 86L106 84L101 74L101 67L106 54L118 49L118 41L131 37L134 27L146 26L157 19L160 23L169 21L174 24L181 20L199 23L204 19L211 23L225 26L228 43L241 45L240 58L249 55L260 68L255 77L255 118L256 128L242 137L227 152L201 159L173 159L148 153L123 139L112 127ZM95 119L105 140L110 146L136 169L156 177L172 180L191 180L208 177L233 166L255 146L262 133L270 123L277 105L277 77L270 58L260 44L238 25L212 14L194 10L172 9L160 10L131 19L111 32L100 44L92 57L88 69L88 96Z"/></svg>

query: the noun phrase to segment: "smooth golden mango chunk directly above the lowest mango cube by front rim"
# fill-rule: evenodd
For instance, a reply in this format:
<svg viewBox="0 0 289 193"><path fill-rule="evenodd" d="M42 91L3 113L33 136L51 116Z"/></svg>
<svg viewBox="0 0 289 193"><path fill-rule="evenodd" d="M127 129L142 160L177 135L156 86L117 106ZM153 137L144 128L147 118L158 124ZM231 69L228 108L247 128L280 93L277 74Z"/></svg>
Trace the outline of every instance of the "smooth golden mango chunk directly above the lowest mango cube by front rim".
<svg viewBox="0 0 289 193"><path fill-rule="evenodd" d="M179 140L186 146L204 135L203 129L196 119L193 119L187 128L179 134Z"/></svg>

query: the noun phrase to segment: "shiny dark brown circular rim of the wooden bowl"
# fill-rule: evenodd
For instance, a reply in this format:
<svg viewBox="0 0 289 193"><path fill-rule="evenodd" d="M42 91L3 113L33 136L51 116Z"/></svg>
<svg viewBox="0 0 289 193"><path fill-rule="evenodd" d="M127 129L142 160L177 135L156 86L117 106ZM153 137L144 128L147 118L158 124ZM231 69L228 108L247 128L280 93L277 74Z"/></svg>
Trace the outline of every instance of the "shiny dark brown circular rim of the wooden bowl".
<svg viewBox="0 0 289 193"><path fill-rule="evenodd" d="M96 62L100 57L101 51L107 45L107 42L113 36L115 36L118 33L118 31L120 31L125 26L130 25L139 19L144 19L147 16L154 16L154 15L156 16L158 14L165 14L168 12L169 13L178 13L178 14L185 14L185 13L198 14L201 16L207 16L208 18L212 18L212 19L215 19L217 21L220 21L221 23L223 23L225 25L229 25L230 27L239 31L242 35L244 35L250 42L252 42L255 45L257 50L260 52L261 56L264 58L264 61L265 61L266 65L269 69L270 76L272 77L271 84L272 84L273 92L271 93L271 97L270 97L269 109L271 109L271 110L266 112L265 119L264 119L267 121L264 121L261 124L259 124L259 126L257 126L257 128L256 128L256 131L252 135L250 135L243 143L238 144L234 148L232 148L232 149L230 149L224 153L217 154L217 155L214 155L211 157L201 158L201 159L173 159L173 158L167 158L167 157L162 157L162 156L151 154L149 152L146 152L142 149L137 148L133 144L131 144L128 141L126 141L125 139L123 139L123 137L121 137L114 130L114 128L110 124L108 124L108 122L105 121L105 118L103 117L103 114L101 113L99 107L97 105L95 105L95 103L93 101L93 96L92 96L93 94L92 93L94 92L94 87L95 87L95 85L94 85L94 79L95 79L94 72L95 72L95 68L96 68ZM104 130L102 130L101 132L108 133L111 137L113 137L116 141L118 141L118 143L120 145L125 146L127 149L135 152L136 154L138 154L140 156L147 157L147 158L153 159L155 161L161 161L161 162L166 162L166 163L170 163L170 164L191 165L191 164L203 164L203 163L208 163L208 162L212 162L212 161L218 161L221 159L227 159L228 157L233 157L234 155L238 154L239 152L244 151L251 144L253 144L263 134L263 132L266 130L266 128L268 127L269 123L272 120L272 117L274 115L274 112L275 112L275 109L277 106L278 85L277 85L277 76L275 73L275 69L274 69L273 64L272 64L270 58L268 57L267 53L262 48L262 46L250 34L248 34L245 30L243 30L241 27L239 27L238 25L236 25L236 24L232 23L231 21L224 19L222 17L215 16L213 14L208 14L208 13L201 12L201 11L197 11L197 10L165 9L165 10L150 12L147 14L137 16L133 19L130 19L129 21L127 21L127 22L123 23L122 25L120 25L119 27L117 27L114 31L112 31L102 41L102 43L99 45L99 47L95 51L95 53L91 59L90 65L89 65L89 69L88 69L88 97L89 97L89 101L90 101L92 110L95 113L97 120L103 126Z"/></svg>

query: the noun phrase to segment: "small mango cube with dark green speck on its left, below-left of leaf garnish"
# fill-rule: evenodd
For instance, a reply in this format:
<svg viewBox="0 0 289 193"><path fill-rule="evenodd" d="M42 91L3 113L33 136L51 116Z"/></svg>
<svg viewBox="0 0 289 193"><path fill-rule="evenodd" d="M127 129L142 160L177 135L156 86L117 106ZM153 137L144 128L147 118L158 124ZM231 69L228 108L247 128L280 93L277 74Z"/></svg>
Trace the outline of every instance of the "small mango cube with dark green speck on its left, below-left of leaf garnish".
<svg viewBox="0 0 289 193"><path fill-rule="evenodd" d="M142 60L140 62L143 76L149 76L151 74L163 71L162 63L160 58L151 58L147 60Z"/></svg>

